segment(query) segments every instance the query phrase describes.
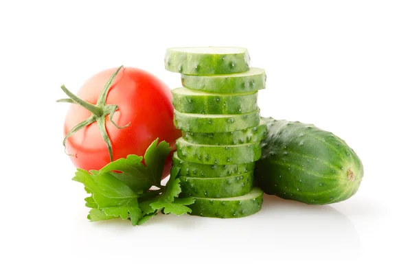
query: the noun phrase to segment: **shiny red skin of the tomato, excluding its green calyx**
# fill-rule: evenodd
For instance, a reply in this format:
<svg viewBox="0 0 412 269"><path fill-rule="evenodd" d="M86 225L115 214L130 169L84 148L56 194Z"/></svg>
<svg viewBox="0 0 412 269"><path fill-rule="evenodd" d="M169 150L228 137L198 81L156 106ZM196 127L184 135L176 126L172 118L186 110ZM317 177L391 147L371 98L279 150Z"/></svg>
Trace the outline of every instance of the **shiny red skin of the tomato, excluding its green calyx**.
<svg viewBox="0 0 412 269"><path fill-rule="evenodd" d="M77 96L82 100L96 104L100 92L116 68L106 69L93 75L80 87ZM117 73L108 91L106 104L116 104L113 121L116 128L106 117L106 130L111 139L113 161L126 158L129 154L144 156L148 146L159 138L170 144L172 152L176 150L175 141L181 137L181 131L173 124L172 93L170 88L159 78L147 71L124 67ZM90 117L91 113L77 104L71 104L65 119L65 135L71 128ZM78 168L101 169L110 163L107 145L99 132L98 124L93 122L67 139L66 152ZM165 163L163 178L170 174L172 153Z"/></svg>

